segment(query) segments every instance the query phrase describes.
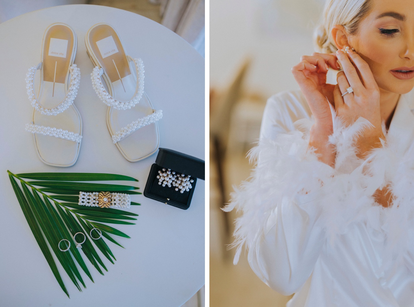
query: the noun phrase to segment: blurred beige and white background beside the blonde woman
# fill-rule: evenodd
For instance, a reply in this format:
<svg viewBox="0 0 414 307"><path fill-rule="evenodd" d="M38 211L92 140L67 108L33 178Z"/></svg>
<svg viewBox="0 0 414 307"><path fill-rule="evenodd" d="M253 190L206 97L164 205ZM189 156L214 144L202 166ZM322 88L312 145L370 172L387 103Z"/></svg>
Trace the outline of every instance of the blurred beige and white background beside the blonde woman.
<svg viewBox="0 0 414 307"><path fill-rule="evenodd" d="M282 307L291 296L253 273L247 254L233 265L233 185L250 174L268 97L299 89L291 67L315 51L325 0L210 0L210 306Z"/></svg>

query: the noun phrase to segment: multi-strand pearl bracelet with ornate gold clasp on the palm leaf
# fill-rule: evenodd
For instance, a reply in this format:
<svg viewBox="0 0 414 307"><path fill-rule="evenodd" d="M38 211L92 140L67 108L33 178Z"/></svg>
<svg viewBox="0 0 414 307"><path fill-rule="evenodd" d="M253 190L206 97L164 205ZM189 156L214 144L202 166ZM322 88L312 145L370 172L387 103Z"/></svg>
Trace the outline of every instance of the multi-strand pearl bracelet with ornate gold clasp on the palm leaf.
<svg viewBox="0 0 414 307"><path fill-rule="evenodd" d="M79 192L80 206L101 208L129 208L131 197L124 193L110 192Z"/></svg>

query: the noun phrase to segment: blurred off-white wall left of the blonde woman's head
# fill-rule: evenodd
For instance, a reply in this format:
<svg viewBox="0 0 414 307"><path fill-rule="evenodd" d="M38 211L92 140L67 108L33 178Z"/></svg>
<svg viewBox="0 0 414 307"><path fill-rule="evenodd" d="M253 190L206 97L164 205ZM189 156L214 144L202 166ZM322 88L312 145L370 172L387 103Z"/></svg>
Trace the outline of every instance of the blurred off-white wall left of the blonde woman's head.
<svg viewBox="0 0 414 307"><path fill-rule="evenodd" d="M270 96L298 89L291 74L314 50L324 0L210 0L210 87L226 88L247 57L246 86Z"/></svg>

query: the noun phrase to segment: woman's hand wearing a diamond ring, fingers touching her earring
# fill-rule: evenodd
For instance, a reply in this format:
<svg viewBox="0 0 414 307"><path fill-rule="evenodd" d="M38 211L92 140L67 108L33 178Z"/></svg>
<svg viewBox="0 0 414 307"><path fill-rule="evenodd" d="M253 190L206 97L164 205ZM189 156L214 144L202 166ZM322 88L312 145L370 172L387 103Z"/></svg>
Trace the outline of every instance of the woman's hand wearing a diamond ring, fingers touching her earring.
<svg viewBox="0 0 414 307"><path fill-rule="evenodd" d="M381 127L380 91L368 64L352 50L347 53L349 57L342 50L337 51L338 61L344 71L337 74L335 110L347 125L359 117L367 119L373 125L364 130L357 140L358 155L363 158L368 151L380 146L380 138L385 138ZM342 96L350 86L354 92Z"/></svg>

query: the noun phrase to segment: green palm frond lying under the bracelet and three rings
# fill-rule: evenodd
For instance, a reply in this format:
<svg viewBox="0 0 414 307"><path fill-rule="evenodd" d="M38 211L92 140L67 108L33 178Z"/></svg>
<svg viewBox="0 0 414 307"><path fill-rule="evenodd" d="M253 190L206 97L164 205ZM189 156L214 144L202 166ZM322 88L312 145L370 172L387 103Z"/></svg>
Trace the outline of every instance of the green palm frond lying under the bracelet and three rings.
<svg viewBox="0 0 414 307"><path fill-rule="evenodd" d="M134 191L139 188L131 185L114 185L82 181L125 180L137 182L138 180L123 175L100 173L13 174L8 170L7 173L9 174L10 182L12 183L14 193L16 194L26 221L45 256L53 275L68 297L69 293L60 276L52 252L55 254L60 265L79 291L82 291L81 286L86 288L86 285L79 272L78 266L92 282L94 281L79 249L76 248L76 244L73 240L73 235L75 235L75 233L82 232L86 235L86 240L82 244L81 250L96 270L102 275L103 270L108 271L99 257L97 249L99 249L101 254L111 261L111 263L114 263L114 260L116 259L103 238L123 247L116 242L111 235L118 235L125 238L130 237L120 230L102 223L132 225L135 224L132 223L132 221L137 220L133 216L138 216L138 214L113 208L79 206L79 191L107 191L125 194L141 193ZM131 202L131 205L140 204ZM90 231L92 228L101 230L101 239L91 240ZM70 249L67 252L61 252L58 247L58 243L62 239L70 241ZM49 243L50 247L47 243ZM66 247L63 247L63 249L65 248Z"/></svg>

